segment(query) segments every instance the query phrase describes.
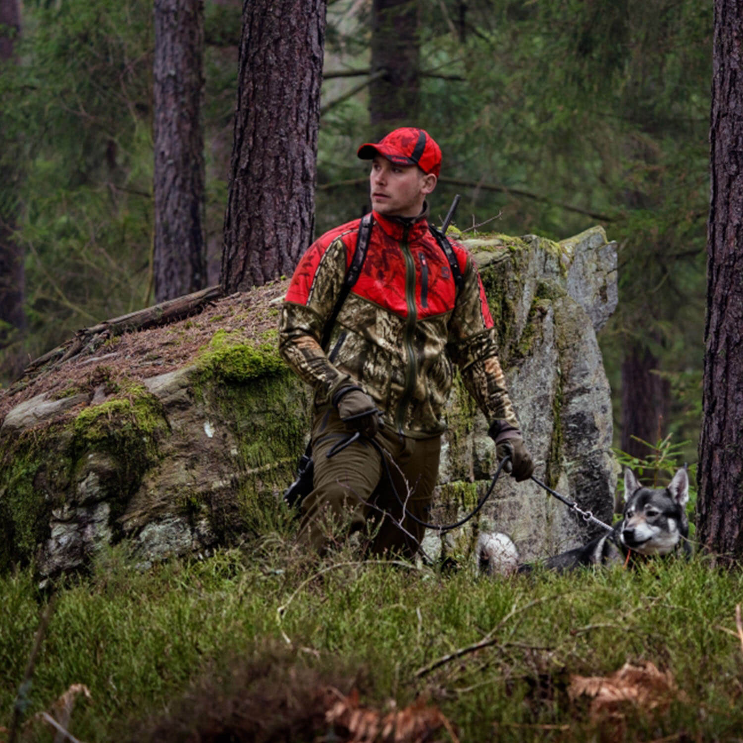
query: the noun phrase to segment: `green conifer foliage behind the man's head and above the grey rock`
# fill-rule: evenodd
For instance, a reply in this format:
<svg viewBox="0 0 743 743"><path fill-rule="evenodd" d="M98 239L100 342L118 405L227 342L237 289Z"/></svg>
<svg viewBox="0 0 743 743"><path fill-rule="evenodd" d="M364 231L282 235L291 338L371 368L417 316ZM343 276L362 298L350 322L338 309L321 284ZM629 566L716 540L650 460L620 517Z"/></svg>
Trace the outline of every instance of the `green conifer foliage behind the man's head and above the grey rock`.
<svg viewBox="0 0 743 743"><path fill-rule="evenodd" d="M349 4L336 5L340 13ZM620 245L620 304L600 338L612 387L620 387L632 342L653 348L663 374L700 369L712 7L693 0L424 6L421 68L464 78L421 79L419 122L444 151L432 215L457 190L461 226L497 217L504 233L563 238L603 223ZM367 33L362 23L344 16L345 35ZM366 61L353 51L341 59L357 67ZM329 97L338 97L339 85L326 83ZM322 177L364 175L354 165L354 145L363 141L359 104L352 99L323 118ZM482 185L463 188L446 178ZM334 198L320 192L320 229L342 221L341 202L345 215L356 215L365 192L364 184ZM687 392L693 399L674 399L669 430L690 438L692 449L698 421L680 416L699 406L701 392Z"/></svg>

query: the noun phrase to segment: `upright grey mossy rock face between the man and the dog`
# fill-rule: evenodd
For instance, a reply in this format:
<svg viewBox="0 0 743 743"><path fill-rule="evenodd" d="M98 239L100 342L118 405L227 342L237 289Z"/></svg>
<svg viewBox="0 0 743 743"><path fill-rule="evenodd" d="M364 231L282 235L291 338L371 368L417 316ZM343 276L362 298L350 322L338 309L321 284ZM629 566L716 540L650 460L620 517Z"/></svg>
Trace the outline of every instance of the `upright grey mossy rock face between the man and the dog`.
<svg viewBox="0 0 743 743"><path fill-rule="evenodd" d="M610 448L611 391L596 331L617 304L616 246L600 227L560 242L462 237L480 267L536 476L610 522L617 468ZM455 392L432 516L441 523L467 510L464 504L452 510L450 493L460 492L452 486L471 483L483 495L497 466L483 416L461 390ZM461 555L478 531L493 529L510 533L524 559L554 554L592 533L537 484L502 478L477 519L443 539L429 533L426 548L429 554Z"/></svg>

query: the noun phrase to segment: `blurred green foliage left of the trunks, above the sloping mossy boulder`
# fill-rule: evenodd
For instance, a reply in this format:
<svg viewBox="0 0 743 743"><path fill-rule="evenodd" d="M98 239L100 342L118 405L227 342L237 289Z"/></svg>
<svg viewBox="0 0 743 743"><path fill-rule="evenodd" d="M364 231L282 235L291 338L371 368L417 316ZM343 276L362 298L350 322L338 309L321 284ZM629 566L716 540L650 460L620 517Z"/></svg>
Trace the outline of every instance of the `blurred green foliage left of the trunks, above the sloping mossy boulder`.
<svg viewBox="0 0 743 743"><path fill-rule="evenodd" d="M25 250L27 351L40 354L146 302L152 6L27 5L22 25L21 63L0 74L0 165L16 175L0 211Z"/></svg>

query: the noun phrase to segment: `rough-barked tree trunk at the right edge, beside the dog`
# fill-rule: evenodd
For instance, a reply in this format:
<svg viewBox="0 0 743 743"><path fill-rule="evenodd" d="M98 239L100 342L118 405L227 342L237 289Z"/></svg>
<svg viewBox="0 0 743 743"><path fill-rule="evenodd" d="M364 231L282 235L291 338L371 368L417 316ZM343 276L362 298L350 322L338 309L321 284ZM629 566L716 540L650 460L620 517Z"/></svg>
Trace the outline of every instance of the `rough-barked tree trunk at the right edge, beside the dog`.
<svg viewBox="0 0 743 743"><path fill-rule="evenodd" d="M743 1L715 0L698 535L743 557Z"/></svg>

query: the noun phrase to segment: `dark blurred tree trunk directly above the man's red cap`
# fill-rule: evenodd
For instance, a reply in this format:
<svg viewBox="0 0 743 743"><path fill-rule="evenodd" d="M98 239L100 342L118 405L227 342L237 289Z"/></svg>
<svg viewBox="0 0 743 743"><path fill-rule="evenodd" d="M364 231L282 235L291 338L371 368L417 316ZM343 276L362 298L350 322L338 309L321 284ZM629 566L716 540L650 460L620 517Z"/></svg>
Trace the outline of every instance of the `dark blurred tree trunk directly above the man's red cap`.
<svg viewBox="0 0 743 743"><path fill-rule="evenodd" d="M369 118L375 137L398 126L416 126L420 108L418 0L374 0L371 19Z"/></svg>

